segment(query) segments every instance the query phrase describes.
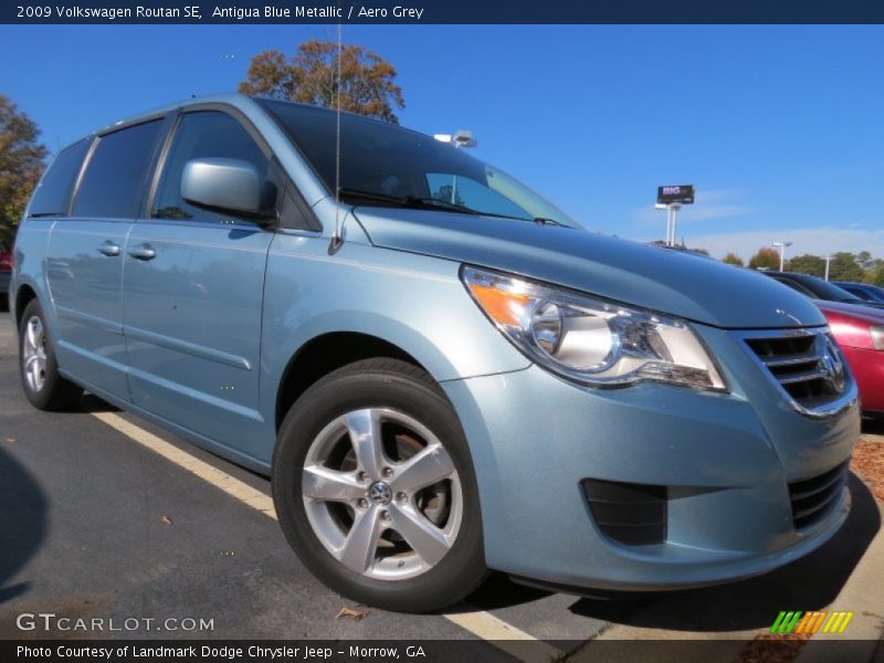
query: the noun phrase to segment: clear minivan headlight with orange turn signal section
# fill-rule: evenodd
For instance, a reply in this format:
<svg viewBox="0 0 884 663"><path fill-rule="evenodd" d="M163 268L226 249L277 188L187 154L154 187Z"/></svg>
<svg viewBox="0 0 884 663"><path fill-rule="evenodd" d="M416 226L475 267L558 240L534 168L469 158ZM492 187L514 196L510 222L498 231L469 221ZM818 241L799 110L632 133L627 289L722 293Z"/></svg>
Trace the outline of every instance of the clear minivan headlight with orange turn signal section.
<svg viewBox="0 0 884 663"><path fill-rule="evenodd" d="M596 387L653 380L727 389L683 320L499 272L465 266L461 275L497 328L552 372Z"/></svg>

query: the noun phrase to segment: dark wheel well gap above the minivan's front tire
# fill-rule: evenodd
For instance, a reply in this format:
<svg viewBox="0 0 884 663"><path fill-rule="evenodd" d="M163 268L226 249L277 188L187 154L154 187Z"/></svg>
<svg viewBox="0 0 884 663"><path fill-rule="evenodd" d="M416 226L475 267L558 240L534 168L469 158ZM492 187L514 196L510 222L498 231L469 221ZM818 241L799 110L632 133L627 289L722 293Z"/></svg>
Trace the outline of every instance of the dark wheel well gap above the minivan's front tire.
<svg viewBox="0 0 884 663"><path fill-rule="evenodd" d="M376 357L400 359L423 368L414 357L377 336L334 332L307 341L291 359L283 373L276 394L276 430L280 430L295 401L319 378L354 361Z"/></svg>

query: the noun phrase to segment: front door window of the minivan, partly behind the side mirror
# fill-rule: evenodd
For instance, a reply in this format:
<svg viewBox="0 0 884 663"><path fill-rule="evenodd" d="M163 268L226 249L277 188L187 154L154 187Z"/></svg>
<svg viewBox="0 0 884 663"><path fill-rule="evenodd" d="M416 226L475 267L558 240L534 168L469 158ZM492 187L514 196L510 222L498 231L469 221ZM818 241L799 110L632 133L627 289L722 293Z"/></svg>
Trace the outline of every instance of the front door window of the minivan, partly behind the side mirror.
<svg viewBox="0 0 884 663"><path fill-rule="evenodd" d="M273 207L277 188L275 182L270 181L274 179L270 172L270 161L249 131L225 113L200 110L181 116L162 169L152 217L219 222L238 218L229 212L197 207L181 198L185 165L191 159L206 158L242 159L253 164L265 182L265 207Z"/></svg>

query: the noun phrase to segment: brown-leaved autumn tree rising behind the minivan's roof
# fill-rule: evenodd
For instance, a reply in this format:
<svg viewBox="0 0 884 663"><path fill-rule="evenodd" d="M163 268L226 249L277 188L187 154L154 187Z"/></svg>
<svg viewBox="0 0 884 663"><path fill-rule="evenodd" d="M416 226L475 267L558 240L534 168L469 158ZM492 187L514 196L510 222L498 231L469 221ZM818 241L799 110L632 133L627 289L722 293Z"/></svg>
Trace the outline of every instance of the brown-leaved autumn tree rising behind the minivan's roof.
<svg viewBox="0 0 884 663"><path fill-rule="evenodd" d="M252 57L240 92L327 108L337 107L338 46L311 40L297 48L291 60L280 51ZM402 88L394 83L392 64L358 45L340 51L340 108L399 124L397 108L404 108Z"/></svg>

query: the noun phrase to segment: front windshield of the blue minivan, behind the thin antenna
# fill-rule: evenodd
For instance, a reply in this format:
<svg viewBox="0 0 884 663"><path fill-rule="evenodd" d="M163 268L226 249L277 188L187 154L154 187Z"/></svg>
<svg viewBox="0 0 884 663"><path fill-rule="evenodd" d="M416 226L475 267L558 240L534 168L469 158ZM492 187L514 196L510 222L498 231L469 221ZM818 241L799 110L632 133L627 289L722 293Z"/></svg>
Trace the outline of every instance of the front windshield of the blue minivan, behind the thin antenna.
<svg viewBox="0 0 884 663"><path fill-rule="evenodd" d="M257 102L334 191L335 112L270 99ZM341 198L366 204L417 203L423 209L439 207L580 228L555 204L463 149L349 113L340 116L340 190Z"/></svg>

